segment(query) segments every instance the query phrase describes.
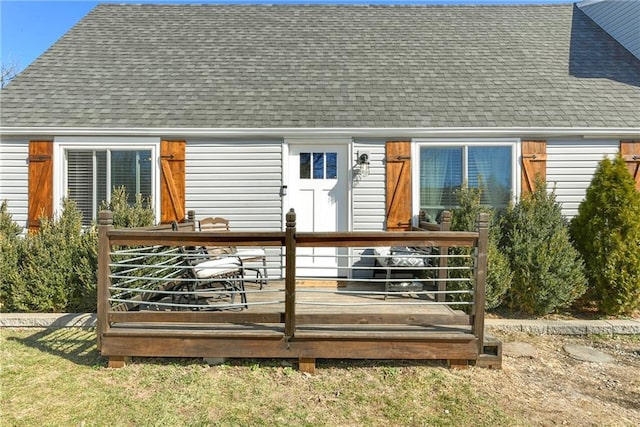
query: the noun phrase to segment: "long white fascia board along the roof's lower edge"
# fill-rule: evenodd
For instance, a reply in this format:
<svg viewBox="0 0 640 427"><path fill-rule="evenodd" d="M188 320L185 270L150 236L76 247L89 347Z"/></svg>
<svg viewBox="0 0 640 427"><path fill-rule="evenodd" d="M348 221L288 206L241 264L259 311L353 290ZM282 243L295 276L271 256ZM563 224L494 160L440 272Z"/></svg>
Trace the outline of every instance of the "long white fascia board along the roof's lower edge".
<svg viewBox="0 0 640 427"><path fill-rule="evenodd" d="M0 136L155 136L171 137L522 137L553 138L582 136L591 138L640 138L640 128L548 128L548 127L475 127L475 128L64 128L0 127Z"/></svg>

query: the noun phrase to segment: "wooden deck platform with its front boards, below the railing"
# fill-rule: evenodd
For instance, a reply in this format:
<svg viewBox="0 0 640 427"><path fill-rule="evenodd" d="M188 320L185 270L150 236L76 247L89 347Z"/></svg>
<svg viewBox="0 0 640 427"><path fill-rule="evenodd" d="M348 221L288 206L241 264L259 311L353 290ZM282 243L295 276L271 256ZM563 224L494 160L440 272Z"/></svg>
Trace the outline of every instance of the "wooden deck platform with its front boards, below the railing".
<svg viewBox="0 0 640 427"><path fill-rule="evenodd" d="M251 285L247 290L249 302L284 299L285 293L282 281L263 291ZM285 335L284 301L242 311L164 311L150 304L139 312L113 312L102 354L116 360L125 355L444 359L454 365L478 359L478 338L464 312L412 293L385 301L381 295L348 294L354 290L375 292L380 284L299 287L291 337Z"/></svg>

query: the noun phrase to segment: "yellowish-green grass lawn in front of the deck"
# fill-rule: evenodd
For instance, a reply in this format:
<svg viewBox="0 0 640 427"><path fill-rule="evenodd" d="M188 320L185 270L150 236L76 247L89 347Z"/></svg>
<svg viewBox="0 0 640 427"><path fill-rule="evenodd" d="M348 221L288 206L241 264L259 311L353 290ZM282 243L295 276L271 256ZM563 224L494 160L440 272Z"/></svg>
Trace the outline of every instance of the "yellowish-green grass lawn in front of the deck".
<svg viewBox="0 0 640 427"><path fill-rule="evenodd" d="M1 422L20 425L514 425L439 363L134 359L107 369L86 329L0 331ZM477 373L478 371L476 371Z"/></svg>

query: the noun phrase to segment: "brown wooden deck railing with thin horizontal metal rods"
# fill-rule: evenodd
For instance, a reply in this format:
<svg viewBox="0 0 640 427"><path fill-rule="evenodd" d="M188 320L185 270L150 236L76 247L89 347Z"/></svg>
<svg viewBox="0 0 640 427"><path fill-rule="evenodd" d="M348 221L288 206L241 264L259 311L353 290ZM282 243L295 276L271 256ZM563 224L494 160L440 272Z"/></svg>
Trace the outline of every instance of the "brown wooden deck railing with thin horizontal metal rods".
<svg viewBox="0 0 640 427"><path fill-rule="evenodd" d="M170 225L115 230L112 227L112 214L108 211L100 212L97 328L99 348L101 340L113 325L127 322L280 324L283 325L285 339L295 337L301 325L309 324L351 324L358 327L361 324L462 323L471 327L472 333L478 338L479 351L482 351L488 235L488 217L484 214L478 218L476 232L442 231L442 228L448 228L447 225L441 226L439 231L424 231L423 228L419 228L409 232L297 232L293 210L286 215L284 232L200 232L195 231L194 220L195 214L191 213L186 223L178 225L177 232L172 230ZM184 253L181 249L203 246L266 248L270 256L282 257L278 264L284 266L284 274L282 277L270 277L267 286L260 289L257 286L243 286L242 291L239 287L198 290L176 286L184 281L193 280L185 278L185 269L189 267L183 262ZM388 289L383 292L371 288L354 290L348 286L344 287L344 284L355 286L366 283L374 287L382 287L382 283L388 284L388 274L380 278L377 273L389 273L389 269L394 267L365 263L368 267L364 267L364 270L371 272L371 277L362 278L357 277L356 270L362 270L363 267L358 267L356 260L373 257L365 254L367 248L393 246L436 248L428 255L428 264L412 269L418 270L418 274L421 275L419 278L400 279L408 283L426 283L424 289L412 289L410 293L413 298L398 298L397 291L389 292ZM467 267L449 265L454 256L448 253L448 248L451 247L474 248L472 262L462 263ZM325 256L335 258L337 254L338 257L344 257L346 261L339 262L342 266L338 268L342 273L340 277L320 275L304 278L305 281L333 281L337 283L337 289L300 286L303 278L296 273L299 274L303 269L297 268L298 261L304 260L306 256L322 256L301 253L306 248L333 248L333 255ZM467 277L464 277L464 274L451 274L454 268L468 269ZM397 271L403 270L398 267ZM347 272L346 275L344 272ZM243 276L229 280L257 279L258 277L251 279ZM455 280L467 284L466 289L457 286L456 289L448 290L447 283L451 284ZM430 284L437 286L429 286ZM242 301L238 303L236 299L236 302L203 307L198 303L189 302L188 299L182 299L183 296L194 293L197 297L198 293L216 296L241 292L247 296L246 304ZM316 298L316 294L320 293L331 295L331 298ZM265 297L267 294L272 296ZM469 298L455 298L453 301L447 298L447 295L450 297L454 294L468 294ZM367 297L367 300L337 301L336 295L363 296ZM387 299L389 296L393 298ZM410 304L463 308L466 305L469 309L466 313L456 310L455 314L450 316L432 313L416 316L414 312L409 315L404 313ZM315 306L314 310L300 310L300 313L297 313L297 308L305 305ZM369 307L369 310L362 311L360 308L363 305ZM350 312L348 308L345 310L345 306L358 307L360 310L354 308L354 312ZM336 307L341 309L338 310ZM394 307L398 309L393 311ZM208 308L215 310L211 311ZM384 312L382 308L385 308Z"/></svg>

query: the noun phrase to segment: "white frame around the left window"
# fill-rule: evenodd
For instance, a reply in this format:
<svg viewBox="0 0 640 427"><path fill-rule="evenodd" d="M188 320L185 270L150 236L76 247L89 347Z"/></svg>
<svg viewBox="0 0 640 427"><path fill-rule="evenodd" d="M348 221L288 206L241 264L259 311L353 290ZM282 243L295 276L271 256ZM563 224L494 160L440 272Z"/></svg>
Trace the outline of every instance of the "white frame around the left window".
<svg viewBox="0 0 640 427"><path fill-rule="evenodd" d="M54 214L62 210L67 191L67 150L151 151L151 192L156 223L160 222L160 138L157 137L56 137L53 142ZM94 189L95 190L95 189ZM107 189L109 194L109 189ZM97 218L95 218L97 220Z"/></svg>

